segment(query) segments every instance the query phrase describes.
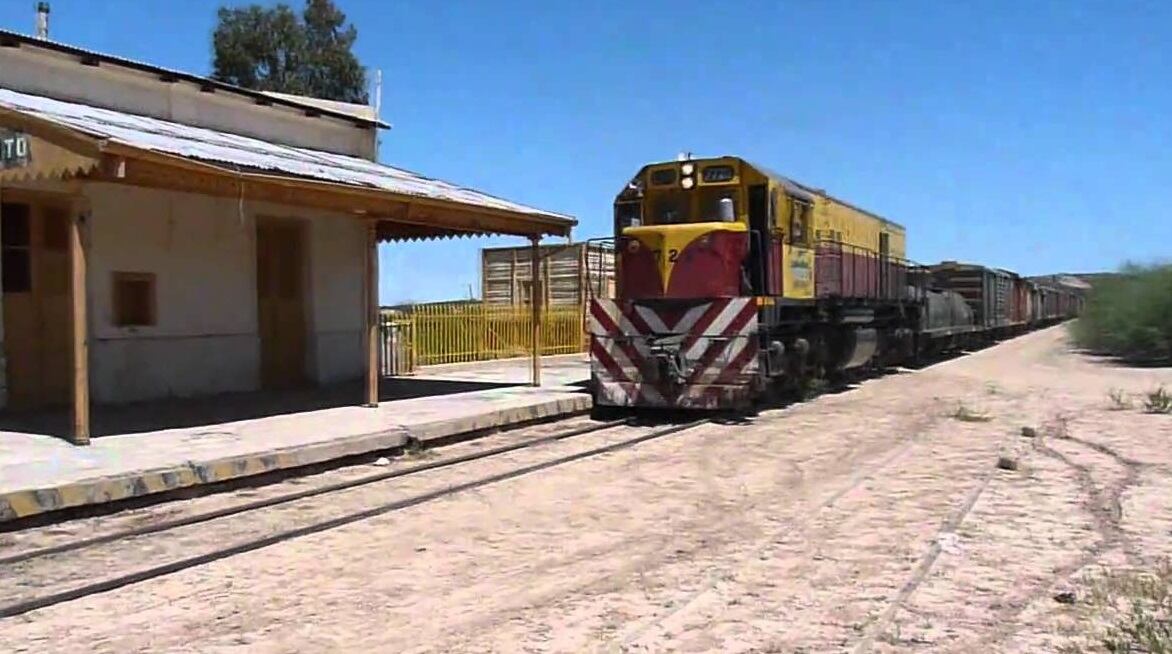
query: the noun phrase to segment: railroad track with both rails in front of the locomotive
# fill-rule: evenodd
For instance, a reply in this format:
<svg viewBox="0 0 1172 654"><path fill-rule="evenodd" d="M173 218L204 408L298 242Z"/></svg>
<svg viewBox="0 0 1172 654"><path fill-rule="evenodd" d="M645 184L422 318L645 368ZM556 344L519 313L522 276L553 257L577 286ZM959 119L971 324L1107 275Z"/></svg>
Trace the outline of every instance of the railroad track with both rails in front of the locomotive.
<svg viewBox="0 0 1172 654"><path fill-rule="evenodd" d="M645 443L656 438L662 438L673 434L693 429L695 427L700 427L701 424L704 424L707 422L709 421L699 420L694 422L673 424L660 428L640 428L625 420L590 424L585 427L578 427L574 429L567 429L565 431L551 435L519 441L516 443L509 443L502 447L471 452L468 455L448 457L440 461L428 462L418 465L411 465L397 470L388 470L384 472L377 472L354 479L348 479L340 483L327 484L313 489L289 492L260 500L247 502L229 506L225 509L196 513L177 519L164 520L156 524L144 525L134 529L111 531L108 533L94 536L90 538L84 538L81 540L74 540L49 547L41 547L36 550L29 550L11 554L0 558L0 567L9 572L8 574L9 583L6 584L8 588L13 588L16 586L16 584L14 584L13 580L11 579L13 577L12 574L13 568L18 568L16 572L19 572L19 568L22 567L27 568L29 566L35 566L39 563L45 563L46 565L60 564L60 558L62 556L67 556L70 553L83 556L87 551L101 549L104 546L111 546L120 543L135 543L136 539L141 539L143 537L151 534L175 532L177 530L191 525L209 524L216 520L223 520L231 517L259 515L260 512L267 509L273 509L282 505L291 505L293 503L312 498L322 498L334 493L341 493L343 491L348 491L352 489L373 486L381 482L416 476L427 471L451 468L455 465L465 464L475 461L499 457L509 452L525 450L543 444L568 441L590 434L598 434L621 427L628 427L638 430L635 435L621 438L619 441L607 442L601 445L574 451L567 455L557 456L553 458L545 458L534 463L513 466L500 472L496 472L483 477L477 477L475 479L447 486L441 486L438 489L429 490L427 492L409 495L407 497L400 497L389 502L381 502L373 506L362 506L356 510L345 512L340 516L334 516L327 519L318 519L314 522L309 522L307 524L301 524L299 526L284 529L272 533L266 533L264 536L247 538L245 540L240 540L230 545L204 551L199 554L172 558L171 560L166 560L165 563L161 563L148 567L142 567L138 570L132 570L130 572L114 574L100 580L87 580L84 583L66 587L64 590L41 592L40 588L38 588L35 594L26 595L16 599L15 601L8 601L2 606L0 606L0 619L12 618L28 613L30 611L36 611L40 608L47 608L59 604L75 601L89 595L114 591L132 584L138 584L142 581L146 581L158 577L164 577L168 574L173 574L177 572L182 572L184 570L206 565L212 561L217 561L229 557L234 557L247 552L257 551L295 538L301 538L313 533L336 529L343 525L357 523L360 520L374 518L376 516L393 513L395 511L409 509L411 506L424 504L427 502L440 499L455 493L488 486L491 484L505 482L507 479L513 479L524 475L531 475L533 472L538 472L558 465L564 465L575 461L581 461L600 456L607 452L613 452L621 449L631 448L640 443Z"/></svg>

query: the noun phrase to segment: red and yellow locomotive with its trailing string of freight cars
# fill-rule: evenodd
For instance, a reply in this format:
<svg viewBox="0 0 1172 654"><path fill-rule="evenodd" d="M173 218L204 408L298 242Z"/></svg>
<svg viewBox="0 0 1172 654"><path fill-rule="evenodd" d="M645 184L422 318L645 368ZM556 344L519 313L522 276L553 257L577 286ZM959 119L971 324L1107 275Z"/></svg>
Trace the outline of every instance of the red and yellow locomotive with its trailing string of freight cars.
<svg viewBox="0 0 1172 654"><path fill-rule="evenodd" d="M1075 315L1077 293L906 259L906 230L740 157L643 166L590 304L595 407L745 409L772 391Z"/></svg>

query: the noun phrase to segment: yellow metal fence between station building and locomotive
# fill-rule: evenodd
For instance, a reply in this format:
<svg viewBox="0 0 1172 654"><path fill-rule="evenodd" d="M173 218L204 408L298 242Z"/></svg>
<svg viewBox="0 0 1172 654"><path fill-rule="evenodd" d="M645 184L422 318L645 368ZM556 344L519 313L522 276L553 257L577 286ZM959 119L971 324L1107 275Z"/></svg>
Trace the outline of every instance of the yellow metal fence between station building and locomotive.
<svg viewBox="0 0 1172 654"><path fill-rule="evenodd" d="M415 305L382 316L383 374L407 374L417 366L526 356L532 339L529 306L479 302ZM541 354L582 352L580 307L541 312Z"/></svg>

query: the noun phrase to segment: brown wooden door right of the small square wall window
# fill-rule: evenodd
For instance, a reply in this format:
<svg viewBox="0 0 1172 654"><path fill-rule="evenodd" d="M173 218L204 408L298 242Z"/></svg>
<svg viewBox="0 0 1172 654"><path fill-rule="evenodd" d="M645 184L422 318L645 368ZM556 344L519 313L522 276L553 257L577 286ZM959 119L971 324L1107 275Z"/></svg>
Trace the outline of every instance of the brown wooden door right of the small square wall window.
<svg viewBox="0 0 1172 654"><path fill-rule="evenodd" d="M257 219L257 308L260 384L288 389L306 383L305 226Z"/></svg>

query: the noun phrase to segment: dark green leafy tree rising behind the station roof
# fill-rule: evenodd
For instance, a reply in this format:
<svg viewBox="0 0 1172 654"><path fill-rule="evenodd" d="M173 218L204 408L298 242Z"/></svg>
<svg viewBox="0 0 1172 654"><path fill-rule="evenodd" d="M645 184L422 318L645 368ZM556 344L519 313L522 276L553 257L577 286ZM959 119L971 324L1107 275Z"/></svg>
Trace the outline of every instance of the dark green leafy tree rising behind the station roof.
<svg viewBox="0 0 1172 654"><path fill-rule="evenodd" d="M366 70L350 49L359 33L333 0L220 7L212 77L231 84L342 102L367 102Z"/></svg>

